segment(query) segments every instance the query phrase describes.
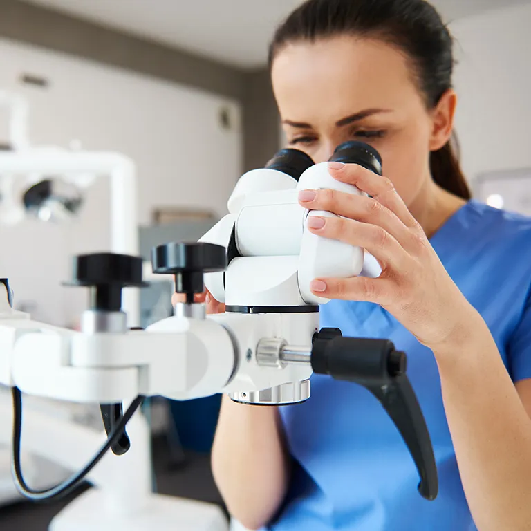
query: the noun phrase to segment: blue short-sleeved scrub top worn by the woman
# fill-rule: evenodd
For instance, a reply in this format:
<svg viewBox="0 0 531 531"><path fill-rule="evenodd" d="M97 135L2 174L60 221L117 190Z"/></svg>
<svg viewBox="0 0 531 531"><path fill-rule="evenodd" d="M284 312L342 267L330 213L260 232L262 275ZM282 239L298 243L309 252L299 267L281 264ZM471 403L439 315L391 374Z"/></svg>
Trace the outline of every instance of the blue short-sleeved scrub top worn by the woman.
<svg viewBox="0 0 531 531"><path fill-rule="evenodd" d="M531 219L470 201L431 244L487 322L512 380L531 378ZM331 301L321 308L321 326L350 337L389 338L407 353L407 374L434 445L439 494L435 501L418 494L407 447L369 391L313 375L310 400L280 409L294 470L270 530L475 530L433 353L371 303Z"/></svg>

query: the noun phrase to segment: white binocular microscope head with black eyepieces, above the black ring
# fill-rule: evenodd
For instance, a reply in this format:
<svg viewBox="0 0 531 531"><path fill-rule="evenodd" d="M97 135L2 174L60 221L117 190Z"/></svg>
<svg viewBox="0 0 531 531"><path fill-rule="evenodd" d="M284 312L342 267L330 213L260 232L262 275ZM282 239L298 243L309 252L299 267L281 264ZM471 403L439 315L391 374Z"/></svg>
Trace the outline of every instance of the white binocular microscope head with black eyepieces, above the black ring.
<svg viewBox="0 0 531 531"><path fill-rule="evenodd" d="M362 142L344 142L331 160L382 171L378 152ZM297 149L279 151L264 168L240 178L228 203L230 214L201 238L227 252L227 270L205 276L207 289L227 311L317 312L328 299L311 292L312 279L354 277L364 270L363 249L324 239L306 227L309 216L333 214L306 210L298 192L324 188L362 195L330 176L328 162L315 165ZM378 276L378 267L372 269L368 276Z"/></svg>

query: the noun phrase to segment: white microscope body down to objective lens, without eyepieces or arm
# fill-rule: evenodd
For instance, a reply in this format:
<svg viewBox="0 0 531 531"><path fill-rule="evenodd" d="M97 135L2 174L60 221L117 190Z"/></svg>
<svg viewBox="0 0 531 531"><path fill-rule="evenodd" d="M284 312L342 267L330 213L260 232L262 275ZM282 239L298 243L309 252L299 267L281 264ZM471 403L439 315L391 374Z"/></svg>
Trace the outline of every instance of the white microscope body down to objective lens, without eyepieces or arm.
<svg viewBox="0 0 531 531"><path fill-rule="evenodd" d="M277 169L249 171L230 197L229 214L200 240L223 245L230 254L227 270L207 274L205 286L229 310L211 319L239 339L241 370L223 388L239 402L283 404L309 398L311 367L281 367L274 359L267 366L264 351L274 349L274 340L259 348L260 340L277 338L306 346L308 352L319 328L318 305L328 302L313 294L310 282L362 272L363 249L316 236L306 227L309 216L333 216L308 212L299 203L300 190L320 188L361 194L333 179L326 163L308 167L298 182Z"/></svg>

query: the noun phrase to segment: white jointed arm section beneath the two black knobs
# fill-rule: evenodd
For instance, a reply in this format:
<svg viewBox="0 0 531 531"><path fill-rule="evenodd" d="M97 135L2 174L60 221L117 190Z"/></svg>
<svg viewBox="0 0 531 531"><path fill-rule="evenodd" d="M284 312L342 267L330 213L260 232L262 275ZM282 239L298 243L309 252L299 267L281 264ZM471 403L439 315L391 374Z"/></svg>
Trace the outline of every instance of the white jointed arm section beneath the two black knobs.
<svg viewBox="0 0 531 531"><path fill-rule="evenodd" d="M169 317L147 331L85 335L30 322L12 352L12 385L80 403L114 403L138 394L178 400L217 393L234 370L232 338L208 320ZM8 326L0 336L12 337Z"/></svg>

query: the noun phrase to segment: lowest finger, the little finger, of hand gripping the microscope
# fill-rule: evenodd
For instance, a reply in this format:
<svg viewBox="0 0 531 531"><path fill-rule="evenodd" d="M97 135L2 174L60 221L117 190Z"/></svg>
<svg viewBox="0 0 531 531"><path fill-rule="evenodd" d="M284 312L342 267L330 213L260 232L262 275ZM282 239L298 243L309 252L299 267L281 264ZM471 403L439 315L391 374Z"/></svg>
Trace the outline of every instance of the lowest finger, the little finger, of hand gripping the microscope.
<svg viewBox="0 0 531 531"><path fill-rule="evenodd" d="M315 279L310 288L319 297L344 301L366 301L386 306L395 297L396 286L390 279Z"/></svg>

